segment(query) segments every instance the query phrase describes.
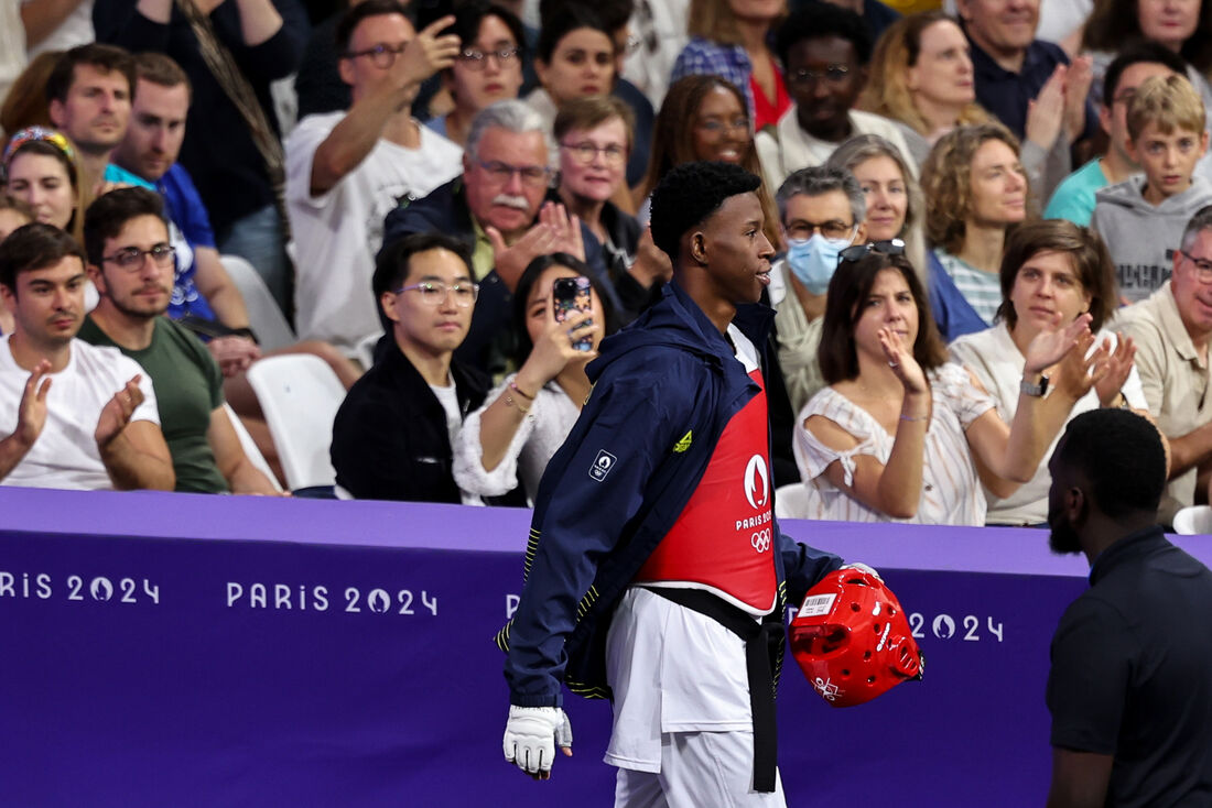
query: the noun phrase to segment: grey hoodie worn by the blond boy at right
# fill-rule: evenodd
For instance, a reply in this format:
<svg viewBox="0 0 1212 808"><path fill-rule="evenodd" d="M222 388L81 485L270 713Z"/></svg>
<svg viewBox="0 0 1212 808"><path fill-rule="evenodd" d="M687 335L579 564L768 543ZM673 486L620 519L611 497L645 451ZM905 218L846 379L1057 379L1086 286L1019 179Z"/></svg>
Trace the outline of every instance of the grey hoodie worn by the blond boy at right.
<svg viewBox="0 0 1212 808"><path fill-rule="evenodd" d="M1173 262L1167 253L1182 246L1183 229L1196 211L1212 205L1212 183L1200 174L1191 178L1190 188L1160 205L1145 201L1144 183L1144 174L1136 174L1099 189L1090 220L1115 262L1120 294L1133 303L1170 279Z"/></svg>

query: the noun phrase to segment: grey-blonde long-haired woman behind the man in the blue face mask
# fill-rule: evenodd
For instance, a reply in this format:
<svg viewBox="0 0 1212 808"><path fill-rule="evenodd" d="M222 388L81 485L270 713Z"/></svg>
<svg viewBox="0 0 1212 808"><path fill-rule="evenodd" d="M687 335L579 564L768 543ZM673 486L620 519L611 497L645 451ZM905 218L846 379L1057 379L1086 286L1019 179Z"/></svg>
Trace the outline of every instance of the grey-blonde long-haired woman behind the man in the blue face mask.
<svg viewBox="0 0 1212 808"><path fill-rule="evenodd" d="M854 174L867 199L867 240L905 242L905 256L926 276L921 223L926 204L905 155L879 134L858 134L837 147L827 166Z"/></svg>

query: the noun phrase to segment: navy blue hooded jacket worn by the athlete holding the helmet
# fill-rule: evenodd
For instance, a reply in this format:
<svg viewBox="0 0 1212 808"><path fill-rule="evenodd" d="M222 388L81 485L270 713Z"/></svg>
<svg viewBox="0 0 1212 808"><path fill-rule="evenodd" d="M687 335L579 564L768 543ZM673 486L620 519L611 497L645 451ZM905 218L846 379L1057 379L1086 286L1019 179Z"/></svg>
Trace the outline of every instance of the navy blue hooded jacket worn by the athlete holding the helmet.
<svg viewBox="0 0 1212 808"><path fill-rule="evenodd" d="M765 353L773 315L747 305L734 322ZM593 392L539 483L526 585L497 635L510 703L521 706L560 705L561 681L610 695L605 643L618 598L694 493L724 428L760 389L675 282L602 342L587 372ZM783 535L777 521L774 535L779 608L841 566Z"/></svg>

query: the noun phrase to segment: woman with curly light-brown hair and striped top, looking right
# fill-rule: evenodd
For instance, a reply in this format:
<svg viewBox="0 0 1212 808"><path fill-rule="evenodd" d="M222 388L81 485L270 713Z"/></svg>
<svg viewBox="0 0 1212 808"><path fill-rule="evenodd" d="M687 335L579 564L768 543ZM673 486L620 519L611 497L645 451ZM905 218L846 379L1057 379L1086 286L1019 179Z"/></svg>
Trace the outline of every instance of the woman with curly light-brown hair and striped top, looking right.
<svg viewBox="0 0 1212 808"><path fill-rule="evenodd" d="M930 305L950 342L993 325L1001 305L1006 236L1028 216L1030 184L1018 141L1001 124L961 126L934 144L921 171Z"/></svg>

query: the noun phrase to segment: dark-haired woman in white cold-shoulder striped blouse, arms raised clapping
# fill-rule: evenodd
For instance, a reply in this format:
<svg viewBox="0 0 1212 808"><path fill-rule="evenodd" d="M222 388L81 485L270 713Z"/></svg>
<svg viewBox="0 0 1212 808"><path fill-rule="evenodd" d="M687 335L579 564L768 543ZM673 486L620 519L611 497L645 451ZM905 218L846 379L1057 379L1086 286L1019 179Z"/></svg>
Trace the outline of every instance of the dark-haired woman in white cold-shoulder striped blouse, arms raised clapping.
<svg viewBox="0 0 1212 808"><path fill-rule="evenodd" d="M1073 403L1104 372L1105 350L1087 356L1090 315L1042 331L1028 346L1007 425L984 388L947 362L911 264L881 247L896 250L844 251L829 283L819 360L830 386L800 413L795 434L806 516L984 525L979 483L1006 497L1031 479ZM1045 397L1042 371L1058 362Z"/></svg>

